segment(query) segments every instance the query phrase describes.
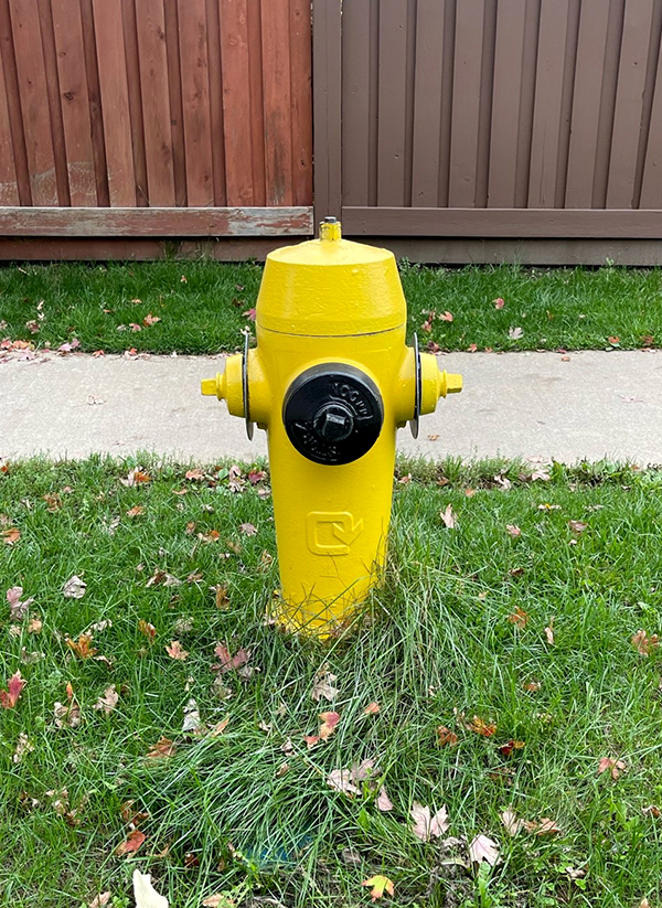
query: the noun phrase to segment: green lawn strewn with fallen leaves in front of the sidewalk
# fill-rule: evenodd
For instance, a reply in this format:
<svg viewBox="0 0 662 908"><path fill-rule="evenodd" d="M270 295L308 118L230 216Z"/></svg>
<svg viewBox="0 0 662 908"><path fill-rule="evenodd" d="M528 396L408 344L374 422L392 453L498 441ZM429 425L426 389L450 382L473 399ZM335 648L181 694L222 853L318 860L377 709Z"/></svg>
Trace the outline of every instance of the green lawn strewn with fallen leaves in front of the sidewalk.
<svg viewBox="0 0 662 908"><path fill-rule="evenodd" d="M131 466L29 461L0 473L0 530L21 532L13 545L0 542L0 682L19 669L28 682L15 709L0 709L2 905L71 908L110 890L111 905L126 908L135 867L153 875L173 908L221 891L253 908L369 905L361 884L381 873L395 884L384 904L658 904L662 820L643 809L662 808L662 662L655 649L639 654L631 637L661 630L659 471L555 464L548 482L530 482L522 464L403 464L413 479L395 485L374 621L322 645L265 623L277 586L276 562L263 555L275 555L271 505L260 496L267 480L233 493L225 468L196 482L185 467L142 462L151 481L127 488L120 479ZM498 474L512 487L502 489ZM440 520L448 504L455 530ZM143 512L128 516L137 505ZM570 520L588 526L575 533ZM257 533L245 535L242 523ZM199 538L212 530L217 542ZM148 587L156 569L183 583ZM74 574L87 584L78 600L62 592ZM222 609L216 584L227 587ZM14 585L34 597L41 633L29 632L28 618L12 630L4 591ZM528 616L524 628L509 621L517 608ZM106 619L94 645L111 666L76 658L65 637ZM173 639L185 661L168 656ZM224 675L226 699L213 688L218 641L233 653L249 649L256 670ZM23 648L36 661L22 661ZM310 696L324 667L338 679L332 704ZM53 707L67 703L67 683L82 722L57 728ZM93 705L109 684L119 702L105 716ZM182 734L190 697L203 722L228 718L223 735ZM372 701L381 712L363 715ZM335 734L308 750L302 736L331 708L341 715ZM495 734L467 730L473 716ZM456 747L437 746L440 725L458 735ZM34 749L14 763L20 733ZM177 752L147 759L162 736ZM524 747L505 756L511 739ZM367 788L350 800L325 782L367 758L391 813L377 811ZM624 762L620 778L598 775L602 758ZM47 794L63 788L77 810L68 822ZM118 857L130 799L149 814L140 822L147 838L137 855ZM419 842L414 801L445 804L450 836L496 840L501 863L477 876L452 863L461 844ZM511 838L500 821L509 806L528 821L551 818L559 832ZM572 882L568 867L586 876Z"/></svg>

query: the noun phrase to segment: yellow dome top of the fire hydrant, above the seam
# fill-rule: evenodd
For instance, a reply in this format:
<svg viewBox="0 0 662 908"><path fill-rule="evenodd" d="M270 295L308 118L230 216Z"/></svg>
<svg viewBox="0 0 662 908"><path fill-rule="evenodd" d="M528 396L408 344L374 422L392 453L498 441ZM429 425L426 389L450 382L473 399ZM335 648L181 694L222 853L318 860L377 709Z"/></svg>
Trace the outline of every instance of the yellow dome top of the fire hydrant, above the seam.
<svg viewBox="0 0 662 908"><path fill-rule="evenodd" d="M287 334L391 331L407 311L395 257L349 239L311 239L269 253L257 299L258 328Z"/></svg>

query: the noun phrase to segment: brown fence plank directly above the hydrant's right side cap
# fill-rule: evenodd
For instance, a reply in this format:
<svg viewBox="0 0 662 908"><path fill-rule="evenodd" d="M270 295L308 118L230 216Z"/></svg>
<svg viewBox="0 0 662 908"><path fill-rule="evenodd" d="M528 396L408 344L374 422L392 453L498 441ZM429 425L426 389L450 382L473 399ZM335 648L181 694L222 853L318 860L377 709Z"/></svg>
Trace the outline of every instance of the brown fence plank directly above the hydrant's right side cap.
<svg viewBox="0 0 662 908"><path fill-rule="evenodd" d="M418 0L412 145L414 207L436 207L439 197L445 12L445 2Z"/></svg>

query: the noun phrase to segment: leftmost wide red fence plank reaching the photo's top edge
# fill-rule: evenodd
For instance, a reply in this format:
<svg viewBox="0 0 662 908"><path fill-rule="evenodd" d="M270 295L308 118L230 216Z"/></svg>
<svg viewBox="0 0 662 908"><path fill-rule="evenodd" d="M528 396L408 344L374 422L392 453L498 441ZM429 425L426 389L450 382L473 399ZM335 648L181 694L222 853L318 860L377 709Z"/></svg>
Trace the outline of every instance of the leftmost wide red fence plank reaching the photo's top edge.
<svg viewBox="0 0 662 908"><path fill-rule="evenodd" d="M36 0L9 0L23 133L34 205L57 205L44 54Z"/></svg>

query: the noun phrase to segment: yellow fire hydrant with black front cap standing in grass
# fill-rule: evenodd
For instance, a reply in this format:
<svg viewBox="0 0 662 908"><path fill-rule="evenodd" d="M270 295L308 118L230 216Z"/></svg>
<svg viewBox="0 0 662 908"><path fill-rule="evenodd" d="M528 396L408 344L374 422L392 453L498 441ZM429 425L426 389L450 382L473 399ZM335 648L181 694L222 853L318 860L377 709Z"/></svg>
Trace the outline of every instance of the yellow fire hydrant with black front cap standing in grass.
<svg viewBox="0 0 662 908"><path fill-rule="evenodd" d="M407 309L393 253L320 238L267 256L257 346L202 393L268 437L287 627L329 635L351 619L386 557L396 429L462 389L434 355L405 345Z"/></svg>

